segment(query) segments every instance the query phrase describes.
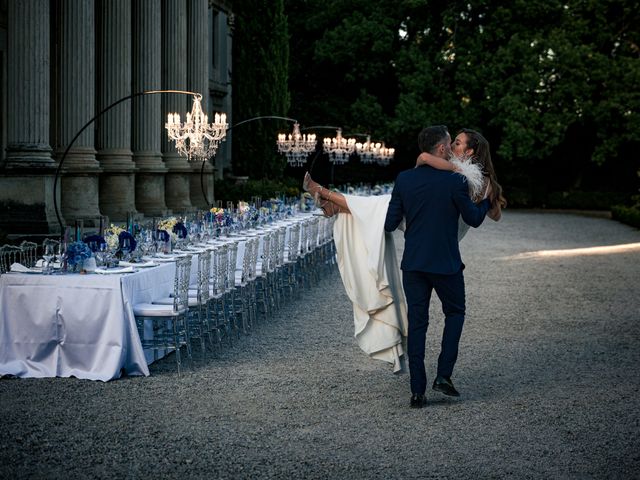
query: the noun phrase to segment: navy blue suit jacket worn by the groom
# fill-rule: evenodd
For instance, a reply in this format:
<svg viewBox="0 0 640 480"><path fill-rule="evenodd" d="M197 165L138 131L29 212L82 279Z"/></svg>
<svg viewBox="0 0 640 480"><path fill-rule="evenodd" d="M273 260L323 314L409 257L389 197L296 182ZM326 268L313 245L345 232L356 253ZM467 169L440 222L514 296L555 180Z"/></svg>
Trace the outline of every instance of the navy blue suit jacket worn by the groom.
<svg viewBox="0 0 640 480"><path fill-rule="evenodd" d="M384 229L395 230L404 216L407 227L402 270L454 274L462 267L458 217L479 227L491 204L469 197L462 175L428 165L401 172L396 179Z"/></svg>

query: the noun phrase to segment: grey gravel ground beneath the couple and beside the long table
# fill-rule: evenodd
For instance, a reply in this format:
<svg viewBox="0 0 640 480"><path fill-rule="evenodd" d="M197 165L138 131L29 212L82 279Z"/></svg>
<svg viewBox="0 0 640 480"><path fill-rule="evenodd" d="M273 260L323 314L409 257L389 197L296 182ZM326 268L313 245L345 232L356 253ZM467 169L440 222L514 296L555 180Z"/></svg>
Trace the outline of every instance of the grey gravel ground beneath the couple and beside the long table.
<svg viewBox="0 0 640 480"><path fill-rule="evenodd" d="M636 242L561 213L472 229L462 396L422 410L358 349L337 273L182 377L171 356L147 378L2 379L0 478L640 478L640 250L508 258Z"/></svg>

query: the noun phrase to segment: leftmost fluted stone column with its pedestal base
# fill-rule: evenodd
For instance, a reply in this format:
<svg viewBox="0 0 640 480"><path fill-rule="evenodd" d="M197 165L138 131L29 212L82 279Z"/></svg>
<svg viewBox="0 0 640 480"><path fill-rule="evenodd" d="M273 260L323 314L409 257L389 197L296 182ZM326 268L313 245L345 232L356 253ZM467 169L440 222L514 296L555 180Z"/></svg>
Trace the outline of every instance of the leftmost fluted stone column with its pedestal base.
<svg viewBox="0 0 640 480"><path fill-rule="evenodd" d="M7 2L7 156L0 172L0 228L9 233L44 233L58 224L49 141L49 7L49 0Z"/></svg>

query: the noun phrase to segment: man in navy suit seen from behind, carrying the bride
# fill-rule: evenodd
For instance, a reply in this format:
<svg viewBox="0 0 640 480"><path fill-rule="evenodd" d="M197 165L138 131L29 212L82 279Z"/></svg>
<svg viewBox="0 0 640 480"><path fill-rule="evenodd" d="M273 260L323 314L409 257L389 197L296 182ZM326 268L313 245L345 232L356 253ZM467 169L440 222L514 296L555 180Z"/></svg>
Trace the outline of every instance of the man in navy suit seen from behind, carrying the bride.
<svg viewBox="0 0 640 480"><path fill-rule="evenodd" d="M451 155L451 136L445 126L425 128L420 132L418 144L423 152L445 159ZM445 314L433 389L459 396L451 381L465 316L464 264L458 247L458 217L462 216L472 227L479 227L490 206L488 199L477 205L473 203L464 177L457 173L422 165L401 172L396 179L384 229L392 232L403 217L406 219L400 268L408 306L407 349L410 406L413 408L421 408L426 403L424 356L433 290L440 298Z"/></svg>

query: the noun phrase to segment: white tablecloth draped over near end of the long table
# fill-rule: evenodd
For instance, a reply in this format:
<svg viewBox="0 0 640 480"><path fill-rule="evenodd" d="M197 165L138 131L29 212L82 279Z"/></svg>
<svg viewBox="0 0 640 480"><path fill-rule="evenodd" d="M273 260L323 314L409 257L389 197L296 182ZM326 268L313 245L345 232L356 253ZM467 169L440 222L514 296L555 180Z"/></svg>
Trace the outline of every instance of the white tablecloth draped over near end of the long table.
<svg viewBox="0 0 640 480"><path fill-rule="evenodd" d="M128 275L0 277L0 375L149 375L132 305L166 296L175 265Z"/></svg>

